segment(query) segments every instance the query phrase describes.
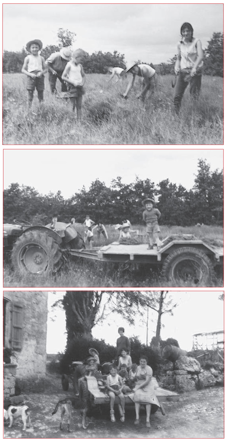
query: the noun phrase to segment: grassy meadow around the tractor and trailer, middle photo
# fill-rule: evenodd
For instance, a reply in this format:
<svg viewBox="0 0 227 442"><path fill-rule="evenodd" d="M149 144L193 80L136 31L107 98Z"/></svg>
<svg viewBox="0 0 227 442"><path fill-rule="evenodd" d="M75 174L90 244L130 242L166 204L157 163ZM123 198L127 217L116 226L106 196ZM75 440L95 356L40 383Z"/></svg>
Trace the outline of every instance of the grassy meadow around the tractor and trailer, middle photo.
<svg viewBox="0 0 227 442"><path fill-rule="evenodd" d="M83 225L77 224L78 231L83 235ZM141 242L146 242L145 227L132 226L138 229ZM221 226L160 226L160 239L172 234L193 234L197 238L215 246L223 245L223 228ZM108 240L94 232L94 248L110 244L118 239L114 226L106 226ZM103 239L102 239L103 238ZM86 248L88 245L86 244ZM53 275L21 275L13 271L10 262L4 265L4 287L172 287L173 285L163 278L160 267L151 267L148 264L133 263L102 263L89 259L72 258L64 261L63 267ZM182 283L179 281L178 287ZM190 282L188 286L192 286ZM223 287L223 277L216 274L214 287ZM187 285L184 285L187 287Z"/></svg>

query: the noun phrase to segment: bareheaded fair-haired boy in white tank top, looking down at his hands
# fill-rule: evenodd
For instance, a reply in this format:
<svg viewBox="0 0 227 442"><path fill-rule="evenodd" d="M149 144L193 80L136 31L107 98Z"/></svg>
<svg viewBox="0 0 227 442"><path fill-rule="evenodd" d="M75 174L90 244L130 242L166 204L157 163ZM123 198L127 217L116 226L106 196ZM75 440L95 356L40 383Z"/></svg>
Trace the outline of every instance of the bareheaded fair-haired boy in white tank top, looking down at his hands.
<svg viewBox="0 0 227 442"><path fill-rule="evenodd" d="M85 74L83 66L80 62L83 59L85 52L81 49L77 49L72 54L72 60L65 66L64 72L61 76L62 80L66 81L68 86L68 97L72 102L72 110L77 111L77 118L81 120L82 117L82 96L85 93Z"/></svg>

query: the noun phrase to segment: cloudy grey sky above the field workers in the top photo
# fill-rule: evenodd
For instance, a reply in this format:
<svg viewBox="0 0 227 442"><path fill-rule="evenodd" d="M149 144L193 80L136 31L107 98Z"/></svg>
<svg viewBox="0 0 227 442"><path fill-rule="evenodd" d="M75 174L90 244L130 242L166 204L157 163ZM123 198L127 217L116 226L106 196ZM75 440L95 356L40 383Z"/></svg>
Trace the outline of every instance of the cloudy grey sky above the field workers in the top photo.
<svg viewBox="0 0 227 442"><path fill-rule="evenodd" d="M78 47L88 53L117 50L125 60L155 64L177 53L182 23L189 22L203 48L213 32L223 31L219 4L4 4L3 49L20 51L39 38L57 45L61 27L76 32Z"/></svg>

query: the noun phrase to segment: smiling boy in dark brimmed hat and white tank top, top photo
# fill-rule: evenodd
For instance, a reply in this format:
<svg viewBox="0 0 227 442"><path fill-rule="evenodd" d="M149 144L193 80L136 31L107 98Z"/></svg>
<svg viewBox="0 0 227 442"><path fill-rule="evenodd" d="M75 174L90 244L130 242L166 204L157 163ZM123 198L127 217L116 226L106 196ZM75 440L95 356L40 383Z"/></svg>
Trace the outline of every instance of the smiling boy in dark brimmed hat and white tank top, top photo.
<svg viewBox="0 0 227 442"><path fill-rule="evenodd" d="M35 88L39 102L43 101L44 74L47 69L44 58L39 54L41 49L41 40L31 40L26 44L26 50L30 54L25 57L21 72L27 76L28 107L31 107Z"/></svg>

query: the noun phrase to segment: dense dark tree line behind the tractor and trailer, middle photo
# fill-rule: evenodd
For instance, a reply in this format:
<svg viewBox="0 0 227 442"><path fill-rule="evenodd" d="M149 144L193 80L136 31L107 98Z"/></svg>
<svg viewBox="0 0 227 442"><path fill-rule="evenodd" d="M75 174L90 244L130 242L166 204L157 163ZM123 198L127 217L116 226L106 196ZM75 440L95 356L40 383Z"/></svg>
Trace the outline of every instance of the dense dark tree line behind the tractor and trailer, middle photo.
<svg viewBox="0 0 227 442"><path fill-rule="evenodd" d="M189 226L223 224L223 170L212 171L206 160L198 160L194 186L186 190L168 178L158 184L150 179L136 179L129 184L118 176L110 186L95 179L88 190L83 186L71 198L61 191L39 194L34 187L11 183L4 190L4 222L23 218L33 225L45 225L53 216L69 222L72 217L82 223L87 214L104 224L117 224L127 218L132 224L143 224L142 201L154 198L161 212L161 225Z"/></svg>

